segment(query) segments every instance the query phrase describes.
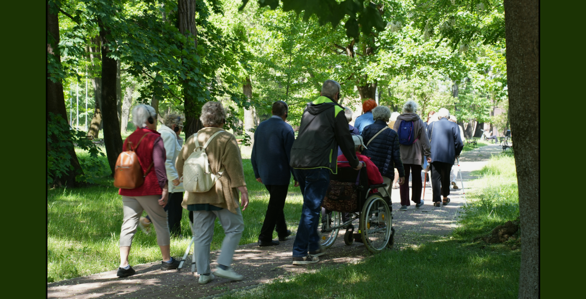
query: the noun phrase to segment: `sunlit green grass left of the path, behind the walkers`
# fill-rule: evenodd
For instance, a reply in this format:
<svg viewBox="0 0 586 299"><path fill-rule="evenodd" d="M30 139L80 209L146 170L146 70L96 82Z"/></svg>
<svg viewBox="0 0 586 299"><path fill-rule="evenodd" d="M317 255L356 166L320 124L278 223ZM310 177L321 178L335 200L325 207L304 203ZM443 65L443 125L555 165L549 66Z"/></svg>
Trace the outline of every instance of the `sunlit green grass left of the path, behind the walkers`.
<svg viewBox="0 0 586 299"><path fill-rule="evenodd" d="M80 154L84 154L80 152ZM87 154L87 153L86 153ZM105 157L104 157L105 160ZM105 161L107 163L107 161ZM250 204L244 211L246 224L240 244L254 243L263 225L268 192L254 180L250 159L244 159L244 173ZM47 195L47 279L49 282L115 270L120 264L118 242L122 225L122 198L111 178L84 188L56 188ZM285 219L295 231L301 215L302 197L299 189L289 188ZM182 232L190 235L188 211L183 211ZM212 250L220 249L224 233L216 221ZM275 233L274 238L277 238ZM183 256L189 239L171 239L171 255ZM132 242L130 264L161 260L156 235L138 230Z"/></svg>

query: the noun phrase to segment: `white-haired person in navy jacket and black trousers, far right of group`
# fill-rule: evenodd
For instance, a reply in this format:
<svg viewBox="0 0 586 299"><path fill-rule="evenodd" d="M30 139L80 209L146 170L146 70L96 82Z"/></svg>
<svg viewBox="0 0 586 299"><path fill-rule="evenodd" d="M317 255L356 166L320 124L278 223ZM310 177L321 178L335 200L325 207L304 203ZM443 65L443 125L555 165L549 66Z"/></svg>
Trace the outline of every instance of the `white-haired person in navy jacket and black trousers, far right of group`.
<svg viewBox="0 0 586 299"><path fill-rule="evenodd" d="M431 184L435 207L440 207L440 198L444 205L449 203L449 173L454 166L454 159L460 155L464 143L460 139L458 124L448 121L448 109L441 108L437 113L439 120L430 123L427 128L431 139Z"/></svg>

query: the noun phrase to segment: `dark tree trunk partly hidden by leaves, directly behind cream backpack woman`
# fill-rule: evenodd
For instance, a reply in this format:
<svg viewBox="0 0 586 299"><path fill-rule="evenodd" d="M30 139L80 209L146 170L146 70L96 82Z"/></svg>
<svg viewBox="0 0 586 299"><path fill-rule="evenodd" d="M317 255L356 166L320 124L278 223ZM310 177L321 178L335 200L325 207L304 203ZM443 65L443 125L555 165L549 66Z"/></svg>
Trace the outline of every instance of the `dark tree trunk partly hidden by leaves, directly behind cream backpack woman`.
<svg viewBox="0 0 586 299"><path fill-rule="evenodd" d="M196 0L178 0L178 26L179 32L193 41L197 47L197 28L195 27ZM203 128L199 120L203 103L190 95L193 87L189 85L189 79L183 81L183 109L185 109L185 138L197 133Z"/></svg>

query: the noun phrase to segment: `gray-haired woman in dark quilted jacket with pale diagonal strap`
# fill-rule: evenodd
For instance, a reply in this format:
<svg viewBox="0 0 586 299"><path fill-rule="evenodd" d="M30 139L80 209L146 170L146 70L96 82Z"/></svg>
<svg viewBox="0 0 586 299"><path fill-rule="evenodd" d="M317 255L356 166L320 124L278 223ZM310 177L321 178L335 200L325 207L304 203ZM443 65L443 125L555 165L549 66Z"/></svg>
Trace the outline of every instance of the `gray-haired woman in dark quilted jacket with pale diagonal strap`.
<svg viewBox="0 0 586 299"><path fill-rule="evenodd" d="M383 183L387 184L386 190L391 194L391 184L395 177L396 168L399 173L399 185L405 180L405 170L401 161L400 144L397 132L387 125L391 117L391 111L386 106L377 106L372 109L374 123L366 126L362 138L368 149L364 150L364 156L370 158L379 168L383 176ZM372 140L371 140L372 139Z"/></svg>

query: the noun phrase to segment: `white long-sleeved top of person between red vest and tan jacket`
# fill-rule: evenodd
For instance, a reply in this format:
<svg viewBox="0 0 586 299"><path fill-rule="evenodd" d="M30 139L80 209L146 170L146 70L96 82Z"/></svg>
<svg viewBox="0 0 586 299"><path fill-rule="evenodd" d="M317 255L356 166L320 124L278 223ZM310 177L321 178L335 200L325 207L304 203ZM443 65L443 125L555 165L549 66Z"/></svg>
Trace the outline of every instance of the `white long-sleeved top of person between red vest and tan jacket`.
<svg viewBox="0 0 586 299"><path fill-rule="evenodd" d="M167 171L167 179L169 180L169 193L185 192L183 183L179 183L178 186L173 185L173 180L179 178L177 169L175 168L175 162L183 146L183 139L177 136L173 129L165 125L161 125L158 132L161 133L161 138L165 145L165 170Z"/></svg>

